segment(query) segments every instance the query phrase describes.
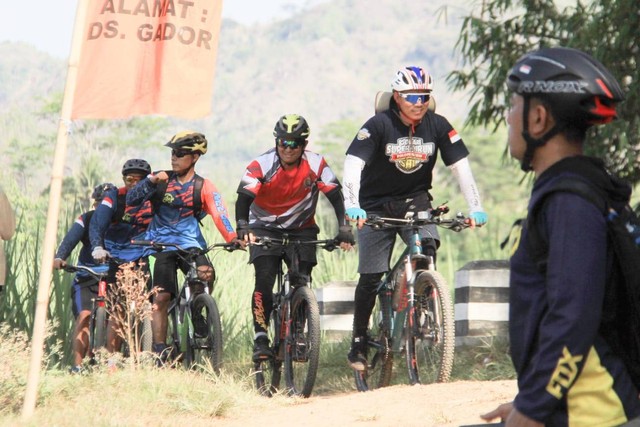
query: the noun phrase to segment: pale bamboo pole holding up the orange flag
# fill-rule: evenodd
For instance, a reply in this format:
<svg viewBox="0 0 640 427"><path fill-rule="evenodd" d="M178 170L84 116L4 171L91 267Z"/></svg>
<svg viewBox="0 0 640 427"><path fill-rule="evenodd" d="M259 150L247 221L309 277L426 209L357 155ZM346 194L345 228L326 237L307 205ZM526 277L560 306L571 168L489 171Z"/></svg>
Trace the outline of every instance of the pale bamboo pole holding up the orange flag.
<svg viewBox="0 0 640 427"><path fill-rule="evenodd" d="M28 420L33 415L38 395L38 383L40 381L40 369L44 353L47 308L49 304L49 285L51 283L51 273L53 270L53 257L55 256L58 216L60 213L60 195L62 193L64 163L67 154L67 138L70 132L73 96L76 90L80 48L82 46L84 23L86 21L89 1L90 0L78 0L78 6L76 8L71 53L69 55L67 68L67 81L64 88L62 111L60 113L60 123L58 124L58 136L53 156L49 210L47 211L47 225L45 228L42 261L40 263L36 313L33 323L33 334L31 336L31 359L27 376L27 388L22 405L22 418L24 420Z"/></svg>

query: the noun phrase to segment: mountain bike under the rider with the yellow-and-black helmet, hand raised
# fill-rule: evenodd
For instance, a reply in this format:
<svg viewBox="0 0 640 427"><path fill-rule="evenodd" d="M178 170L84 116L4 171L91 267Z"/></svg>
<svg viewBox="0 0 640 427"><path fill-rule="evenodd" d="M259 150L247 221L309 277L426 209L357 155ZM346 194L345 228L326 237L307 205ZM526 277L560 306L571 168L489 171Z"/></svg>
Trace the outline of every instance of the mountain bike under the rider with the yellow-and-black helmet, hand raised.
<svg viewBox="0 0 640 427"><path fill-rule="evenodd" d="M155 251L172 248L189 266L178 295L169 304L169 349L167 357L182 361L193 369L211 365L219 373L222 367L222 322L218 304L210 294L208 283L198 278L196 259L214 248L232 252L239 247L235 243L215 243L204 249L182 248L173 243L158 243L149 240L132 240L131 244L150 246ZM177 275L177 271L176 271ZM176 276L177 278L177 276ZM176 283L179 283L176 280Z"/></svg>

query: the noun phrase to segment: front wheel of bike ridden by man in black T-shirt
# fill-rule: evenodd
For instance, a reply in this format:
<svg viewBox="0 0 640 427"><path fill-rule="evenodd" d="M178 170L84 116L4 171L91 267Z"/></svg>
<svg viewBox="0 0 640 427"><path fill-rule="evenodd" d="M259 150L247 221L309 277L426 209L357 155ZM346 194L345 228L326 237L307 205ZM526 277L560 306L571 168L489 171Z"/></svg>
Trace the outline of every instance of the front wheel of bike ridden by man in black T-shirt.
<svg viewBox="0 0 640 427"><path fill-rule="evenodd" d="M447 382L453 368L455 329L449 287L440 273L416 273L415 305L407 317L407 368L411 384Z"/></svg>

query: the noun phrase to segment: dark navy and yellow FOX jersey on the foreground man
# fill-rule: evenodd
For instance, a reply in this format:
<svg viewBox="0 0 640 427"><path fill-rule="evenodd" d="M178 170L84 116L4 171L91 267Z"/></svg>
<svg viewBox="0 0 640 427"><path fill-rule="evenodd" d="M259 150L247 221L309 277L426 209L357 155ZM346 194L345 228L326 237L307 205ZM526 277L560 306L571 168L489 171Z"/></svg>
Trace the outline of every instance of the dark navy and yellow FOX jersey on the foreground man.
<svg viewBox="0 0 640 427"><path fill-rule="evenodd" d="M530 210L562 176L548 172L533 187ZM511 257L515 407L546 425L622 424L640 415L640 403L600 330L610 262L604 214L577 194L555 192L536 218L548 242L546 273L534 261L526 227Z"/></svg>

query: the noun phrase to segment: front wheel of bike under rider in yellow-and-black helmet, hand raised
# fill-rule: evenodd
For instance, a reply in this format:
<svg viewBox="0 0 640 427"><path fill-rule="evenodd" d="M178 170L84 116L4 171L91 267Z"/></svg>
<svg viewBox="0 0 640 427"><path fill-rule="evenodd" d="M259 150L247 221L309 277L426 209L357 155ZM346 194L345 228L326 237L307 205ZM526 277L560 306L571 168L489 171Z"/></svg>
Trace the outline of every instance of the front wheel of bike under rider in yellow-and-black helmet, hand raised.
<svg viewBox="0 0 640 427"><path fill-rule="evenodd" d="M215 373L222 367L222 322L218 305L211 295L204 292L191 303L193 336L189 337L192 367L211 366Z"/></svg>

